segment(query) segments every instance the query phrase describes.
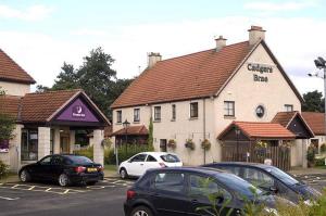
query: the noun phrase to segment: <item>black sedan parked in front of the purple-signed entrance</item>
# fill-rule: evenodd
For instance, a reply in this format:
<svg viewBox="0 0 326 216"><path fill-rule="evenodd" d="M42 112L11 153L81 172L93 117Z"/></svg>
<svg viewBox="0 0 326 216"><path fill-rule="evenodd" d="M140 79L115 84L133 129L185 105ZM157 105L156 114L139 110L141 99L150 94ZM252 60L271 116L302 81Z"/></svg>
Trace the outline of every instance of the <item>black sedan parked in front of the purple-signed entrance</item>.
<svg viewBox="0 0 326 216"><path fill-rule="evenodd" d="M54 154L23 166L18 175L23 182L48 180L63 187L74 183L95 185L103 179L103 168L86 156Z"/></svg>

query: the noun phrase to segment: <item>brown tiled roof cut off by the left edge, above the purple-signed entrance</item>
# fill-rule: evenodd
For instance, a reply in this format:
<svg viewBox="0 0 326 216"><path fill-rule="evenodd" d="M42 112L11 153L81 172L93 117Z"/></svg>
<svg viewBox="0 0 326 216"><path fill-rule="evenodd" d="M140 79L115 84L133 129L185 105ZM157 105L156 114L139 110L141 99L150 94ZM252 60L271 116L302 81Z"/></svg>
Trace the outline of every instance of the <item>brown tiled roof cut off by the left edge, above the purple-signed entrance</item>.
<svg viewBox="0 0 326 216"><path fill-rule="evenodd" d="M0 49L0 80L35 84L36 81Z"/></svg>

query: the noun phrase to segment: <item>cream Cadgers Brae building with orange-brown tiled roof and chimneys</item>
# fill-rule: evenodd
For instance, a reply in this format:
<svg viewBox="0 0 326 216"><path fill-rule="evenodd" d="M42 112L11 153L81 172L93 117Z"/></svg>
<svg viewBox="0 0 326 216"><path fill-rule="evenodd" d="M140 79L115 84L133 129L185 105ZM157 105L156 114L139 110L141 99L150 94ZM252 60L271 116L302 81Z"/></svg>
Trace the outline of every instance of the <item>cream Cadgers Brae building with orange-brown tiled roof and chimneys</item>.
<svg viewBox="0 0 326 216"><path fill-rule="evenodd" d="M261 142L278 150L289 143L289 165L305 164L308 140L314 135L300 114L302 98L262 27L252 26L248 41L227 46L220 36L210 50L148 58L148 68L112 104L113 135L129 136L122 124L127 119L127 131L137 139L143 136L137 128L148 129L152 117L155 150L175 152L188 165L255 161ZM116 139L124 142L124 136ZM170 140L177 143L175 149L168 148ZM185 147L189 140L195 150ZM211 143L210 150L201 148L203 141ZM266 157L276 163L271 152Z"/></svg>

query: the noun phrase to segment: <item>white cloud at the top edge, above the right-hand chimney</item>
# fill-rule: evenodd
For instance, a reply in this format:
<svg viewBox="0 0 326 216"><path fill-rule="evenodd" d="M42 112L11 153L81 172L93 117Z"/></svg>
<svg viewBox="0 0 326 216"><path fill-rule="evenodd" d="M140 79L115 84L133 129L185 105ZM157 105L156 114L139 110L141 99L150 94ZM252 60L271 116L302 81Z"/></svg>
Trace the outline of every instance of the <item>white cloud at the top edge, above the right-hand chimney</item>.
<svg viewBox="0 0 326 216"><path fill-rule="evenodd" d="M256 1L249 2L243 5L247 10L264 11L264 12L279 12L279 11L299 11L305 8L314 7L314 1L290 1L290 2L266 2L266 1Z"/></svg>

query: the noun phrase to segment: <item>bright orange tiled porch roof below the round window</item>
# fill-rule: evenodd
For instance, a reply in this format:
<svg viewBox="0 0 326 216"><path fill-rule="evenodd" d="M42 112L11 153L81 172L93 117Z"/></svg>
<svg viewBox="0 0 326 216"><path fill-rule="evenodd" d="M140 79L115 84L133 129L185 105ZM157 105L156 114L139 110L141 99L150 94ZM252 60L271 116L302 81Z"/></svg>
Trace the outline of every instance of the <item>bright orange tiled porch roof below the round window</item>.
<svg viewBox="0 0 326 216"><path fill-rule="evenodd" d="M294 139L296 136L277 123L233 122L221 135L221 139L231 128L238 127L250 139Z"/></svg>

